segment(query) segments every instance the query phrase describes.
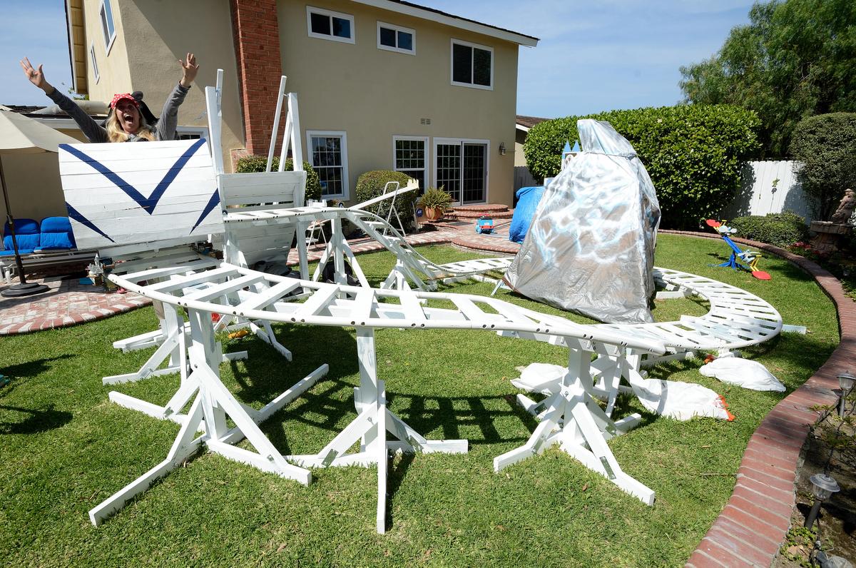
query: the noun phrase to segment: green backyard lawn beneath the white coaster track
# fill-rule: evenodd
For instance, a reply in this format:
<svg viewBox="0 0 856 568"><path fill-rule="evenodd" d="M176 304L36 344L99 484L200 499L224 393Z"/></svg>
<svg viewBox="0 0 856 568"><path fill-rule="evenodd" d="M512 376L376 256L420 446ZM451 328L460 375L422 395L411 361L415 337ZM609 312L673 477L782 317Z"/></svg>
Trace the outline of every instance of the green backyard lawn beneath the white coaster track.
<svg viewBox="0 0 856 568"><path fill-rule="evenodd" d="M420 252L438 262L475 256L449 247ZM750 290L776 306L785 323L807 326L810 334L783 334L746 352L793 390L838 344L835 309L811 278L776 257L761 261L770 282L708 266L726 253L722 242L663 235L657 265ZM360 256L376 283L392 264L390 254ZM488 294L491 286L447 290ZM558 313L507 291L498 296ZM699 302L669 300L657 302L655 316L705 311ZM467 455L395 458L388 534L374 529L375 469L318 469L302 487L214 454L176 469L94 528L87 511L162 460L178 431L110 404L110 389L101 385L102 375L134 371L152 352L122 354L110 344L155 325L152 309L144 308L0 339L0 373L12 377L0 389L0 563L682 565L728 500L752 431L782 398L704 377L697 361L655 368L654 376L721 393L736 420L675 422L622 400L620 412L641 412L644 421L610 446L627 473L657 492L647 507L555 449L493 473L493 457L523 443L534 427L513 402L514 367L561 364L565 350L489 332L381 330L378 374L391 409L430 439L470 442ZM316 452L355 416L354 330L277 326L276 333L294 362L253 337L230 341L227 350L247 349L250 358L224 364L223 381L258 408L328 362L325 380L263 425L282 453ZM117 390L163 404L176 384L173 375Z"/></svg>

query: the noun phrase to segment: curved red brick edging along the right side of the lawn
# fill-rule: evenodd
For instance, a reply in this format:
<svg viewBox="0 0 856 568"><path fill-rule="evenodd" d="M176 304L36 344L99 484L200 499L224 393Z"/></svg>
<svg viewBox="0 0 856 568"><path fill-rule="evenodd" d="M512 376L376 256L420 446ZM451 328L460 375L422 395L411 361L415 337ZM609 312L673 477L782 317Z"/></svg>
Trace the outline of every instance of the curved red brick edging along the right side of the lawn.
<svg viewBox="0 0 856 568"><path fill-rule="evenodd" d="M661 232L719 238L691 231ZM737 470L731 499L687 561L687 566L694 568L773 563L790 528L800 448L818 417L810 407L835 404L836 375L846 371L848 363L852 367L856 362L856 302L844 295L837 278L811 260L783 248L747 239L732 240L781 256L811 274L838 309L841 343L823 367L776 404L752 434Z"/></svg>

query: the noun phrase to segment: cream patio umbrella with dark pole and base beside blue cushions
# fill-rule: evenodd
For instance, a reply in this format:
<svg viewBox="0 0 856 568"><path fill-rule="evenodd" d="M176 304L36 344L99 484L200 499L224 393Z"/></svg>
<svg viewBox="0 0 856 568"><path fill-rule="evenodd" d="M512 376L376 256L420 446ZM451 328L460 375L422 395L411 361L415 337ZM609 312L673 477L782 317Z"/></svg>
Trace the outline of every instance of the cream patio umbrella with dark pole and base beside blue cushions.
<svg viewBox="0 0 856 568"><path fill-rule="evenodd" d="M8 107L0 105L0 186L3 187L3 200L6 204L6 222L9 224L9 233L12 236L12 247L15 249L15 264L18 266L18 278L21 284L10 286L0 295L3 296L29 296L39 294L48 290L44 284L27 283L24 278L24 266L21 263L21 254L18 253L18 241L15 238L15 218L9 207L9 194L7 194L6 178L3 176L3 156L7 154L34 154L41 152L58 152L60 144L76 144L71 136L51 129L42 123L27 118L21 114L10 111Z"/></svg>

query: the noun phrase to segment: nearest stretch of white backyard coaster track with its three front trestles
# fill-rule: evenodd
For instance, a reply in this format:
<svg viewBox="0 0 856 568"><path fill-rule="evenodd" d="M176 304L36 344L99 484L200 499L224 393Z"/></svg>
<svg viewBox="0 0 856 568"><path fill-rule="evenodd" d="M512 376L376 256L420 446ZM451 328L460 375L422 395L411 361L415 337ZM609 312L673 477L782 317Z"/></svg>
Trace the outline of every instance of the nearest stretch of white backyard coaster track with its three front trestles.
<svg viewBox="0 0 856 568"><path fill-rule="evenodd" d="M220 271L220 272L218 272ZM377 378L374 330L377 327L409 329L473 329L509 331L527 335L546 335L562 340L569 346L568 374L565 388L547 404L542 423L538 425L527 445L497 458L496 468L538 453L545 445L561 443L568 453L577 457L591 469L607 475L620 487L639 499L650 502L652 493L621 471L606 440L615 433L626 431L638 417L612 421L597 406L591 392L588 361L591 353L608 353L620 357L627 349L663 353L662 344L637 340L614 332L601 332L603 326L579 326L568 320L539 314L495 298L462 294L441 294L417 290L372 290L343 284L324 284L256 272L246 267L222 263L217 269L218 278L211 277L210 285L198 291L187 292L181 282L171 285L140 285L134 275L114 277L116 284L125 285L143 296L164 303L181 306L190 314L192 346L189 348L191 373L188 380L198 385L196 394L202 404L201 417L193 408L182 423L181 444L187 445L190 434L187 428L199 429L205 422L205 434L200 443L211 451L226 457L250 463L259 469L278 475L308 479L303 472L312 467L362 465L377 467L377 514L379 532L386 529L387 466L389 451L442 451L465 452L466 440L428 440L413 427L401 421L387 408L386 388ZM202 278L184 275L182 278ZM216 280L216 281L215 281ZM247 288L247 282L258 282L264 290ZM223 303L228 290L242 290L241 303ZM304 290L306 301L288 301L288 294L296 287ZM452 302L455 308L433 308L431 302ZM221 302L221 303L217 303ZM217 349L211 326L205 322L210 313L233 314L247 320L271 320L322 326L351 326L357 331L357 349L360 362L360 386L354 392L357 416L317 454L282 457L254 427L255 422L267 416L265 410L256 412L237 403L217 377ZM325 372L325 369L324 369ZM321 372L318 372L319 374ZM586 384L582 377L588 377ZM311 379L311 378L309 378ZM307 379L307 380L309 380ZM192 387L188 387L189 389ZM295 387L292 392L302 392ZM186 395L187 396L187 395ZM290 400L290 398L288 398ZM277 398L272 404L286 404ZM228 416L236 427L227 430L223 424ZM554 431L557 430L557 431ZM231 445L246 436L259 452L244 451ZM176 442L180 447L184 447ZM357 445L359 450L351 451ZM281 459L282 458L282 459ZM172 461L170 461L172 460ZM173 467L170 454L167 461L135 481L115 498L108 499L104 511L113 511L127 499L129 493L139 493L144 481L163 475ZM283 463L294 463L286 468ZM134 493L134 494L136 494ZM121 506L121 505L118 505Z"/></svg>

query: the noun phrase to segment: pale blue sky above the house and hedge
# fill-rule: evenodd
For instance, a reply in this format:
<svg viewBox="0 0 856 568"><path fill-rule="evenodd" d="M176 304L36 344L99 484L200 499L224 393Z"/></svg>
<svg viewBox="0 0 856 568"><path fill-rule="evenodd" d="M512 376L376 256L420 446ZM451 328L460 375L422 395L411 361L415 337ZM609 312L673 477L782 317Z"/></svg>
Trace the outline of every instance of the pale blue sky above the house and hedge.
<svg viewBox="0 0 856 568"><path fill-rule="evenodd" d="M412 0L413 1L413 0ZM541 39L520 48L517 112L565 117L681 99L681 65L710 57L748 22L744 0L415 0ZM2 0L0 104L44 105L27 56L57 87L71 84L62 0Z"/></svg>

